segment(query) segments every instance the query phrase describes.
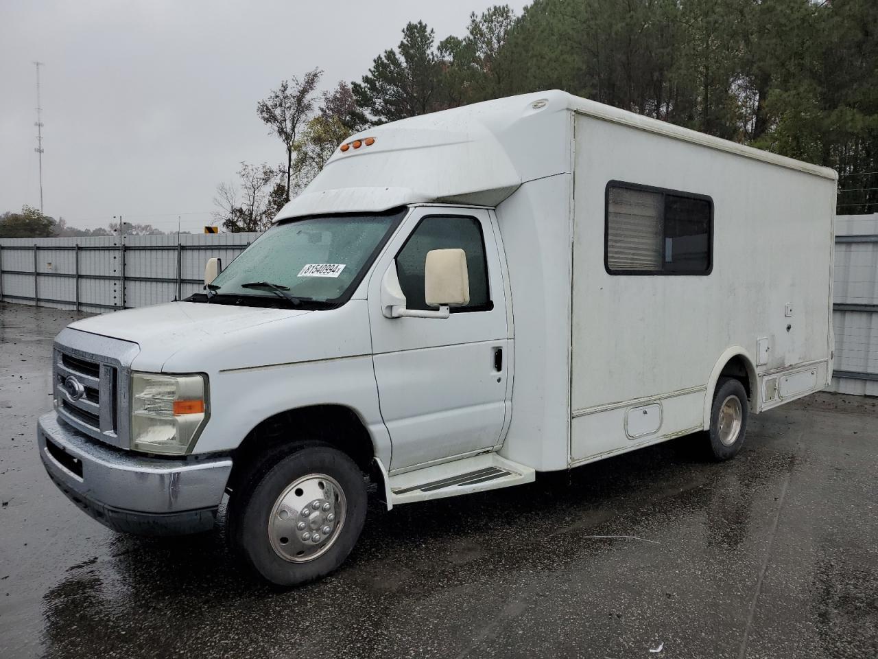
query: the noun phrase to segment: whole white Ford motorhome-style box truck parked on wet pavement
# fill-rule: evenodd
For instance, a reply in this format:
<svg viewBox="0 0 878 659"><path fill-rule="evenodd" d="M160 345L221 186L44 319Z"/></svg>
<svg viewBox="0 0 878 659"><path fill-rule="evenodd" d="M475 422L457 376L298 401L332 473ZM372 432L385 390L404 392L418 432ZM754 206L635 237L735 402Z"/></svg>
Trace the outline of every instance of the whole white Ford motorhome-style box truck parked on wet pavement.
<svg viewBox="0 0 878 659"><path fill-rule="evenodd" d="M48 474L135 533L210 528L272 583L387 508L533 481L831 379L824 169L560 91L370 128L205 291L54 344Z"/></svg>

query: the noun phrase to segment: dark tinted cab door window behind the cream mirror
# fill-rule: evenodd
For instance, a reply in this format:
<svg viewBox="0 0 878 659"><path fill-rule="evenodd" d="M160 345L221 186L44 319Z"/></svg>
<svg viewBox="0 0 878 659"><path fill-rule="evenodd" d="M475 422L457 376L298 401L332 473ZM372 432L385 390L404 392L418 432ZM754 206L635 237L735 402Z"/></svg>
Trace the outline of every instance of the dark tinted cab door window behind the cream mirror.
<svg viewBox="0 0 878 659"><path fill-rule="evenodd" d="M481 224L475 218L463 215L425 217L399 250L396 272L399 287L406 295L406 308L435 310L424 301L424 263L429 250L446 249L464 250L470 277L470 303L465 307L451 308L451 313L492 309Z"/></svg>

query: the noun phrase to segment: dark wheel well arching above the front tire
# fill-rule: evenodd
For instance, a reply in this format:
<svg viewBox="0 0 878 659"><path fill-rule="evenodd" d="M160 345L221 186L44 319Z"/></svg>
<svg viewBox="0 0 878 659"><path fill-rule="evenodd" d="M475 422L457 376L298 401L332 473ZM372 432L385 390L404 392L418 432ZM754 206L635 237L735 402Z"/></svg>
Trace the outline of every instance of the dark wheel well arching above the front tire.
<svg viewBox="0 0 878 659"><path fill-rule="evenodd" d="M353 409L343 405L313 405L288 409L270 416L248 432L232 452L232 473L227 489L234 491L263 456L282 451L297 440L317 440L347 453L363 472L371 473L375 455L372 439Z"/></svg>

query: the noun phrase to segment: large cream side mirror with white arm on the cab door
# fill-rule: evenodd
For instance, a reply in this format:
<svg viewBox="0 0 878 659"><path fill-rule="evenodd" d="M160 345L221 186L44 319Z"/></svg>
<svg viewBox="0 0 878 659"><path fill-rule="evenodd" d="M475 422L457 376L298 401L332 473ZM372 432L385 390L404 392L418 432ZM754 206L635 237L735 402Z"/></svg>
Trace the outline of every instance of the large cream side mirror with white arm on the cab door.
<svg viewBox="0 0 878 659"><path fill-rule="evenodd" d="M424 301L438 311L407 309L394 261L381 279L381 311L386 318L448 318L450 307L470 303L470 274L464 250L430 250L424 262Z"/></svg>

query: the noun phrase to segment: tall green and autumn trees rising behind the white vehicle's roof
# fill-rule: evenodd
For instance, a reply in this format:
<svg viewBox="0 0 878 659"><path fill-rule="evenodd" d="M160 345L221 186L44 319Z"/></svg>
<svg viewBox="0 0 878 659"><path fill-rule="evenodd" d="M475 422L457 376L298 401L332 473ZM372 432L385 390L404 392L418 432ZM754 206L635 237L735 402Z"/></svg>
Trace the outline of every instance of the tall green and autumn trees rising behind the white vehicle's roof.
<svg viewBox="0 0 878 659"><path fill-rule="evenodd" d="M838 213L878 212L875 0L534 0L472 13L461 37L409 23L361 80L319 98L320 75L257 105L285 163L242 163L217 199L227 230L268 226L364 127L547 89L831 167Z"/></svg>

